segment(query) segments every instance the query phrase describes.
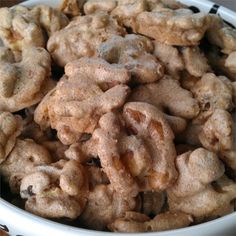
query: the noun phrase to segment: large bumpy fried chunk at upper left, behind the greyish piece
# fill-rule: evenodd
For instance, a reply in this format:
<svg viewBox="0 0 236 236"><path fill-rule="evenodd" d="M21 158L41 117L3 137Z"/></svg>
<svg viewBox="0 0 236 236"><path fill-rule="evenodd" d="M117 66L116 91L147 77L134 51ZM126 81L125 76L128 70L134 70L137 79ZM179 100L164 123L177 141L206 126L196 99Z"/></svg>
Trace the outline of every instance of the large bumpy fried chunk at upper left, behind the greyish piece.
<svg viewBox="0 0 236 236"><path fill-rule="evenodd" d="M65 66L83 56L96 56L96 49L102 42L113 35L125 33L125 29L106 13L79 16L67 27L54 33L48 40L47 48L54 61Z"/></svg>

